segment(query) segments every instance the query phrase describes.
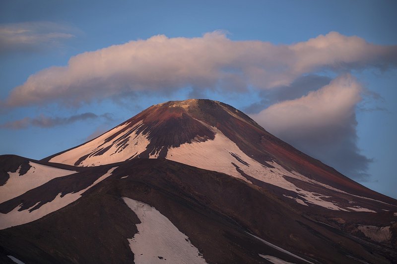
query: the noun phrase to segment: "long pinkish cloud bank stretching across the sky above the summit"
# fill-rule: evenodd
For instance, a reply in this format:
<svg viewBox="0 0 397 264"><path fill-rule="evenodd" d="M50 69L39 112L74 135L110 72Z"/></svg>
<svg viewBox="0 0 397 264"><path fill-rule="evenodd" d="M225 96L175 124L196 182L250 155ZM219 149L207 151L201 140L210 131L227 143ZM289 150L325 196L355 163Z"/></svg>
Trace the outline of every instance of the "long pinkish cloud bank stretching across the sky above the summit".
<svg viewBox="0 0 397 264"><path fill-rule="evenodd" d="M306 42L273 45L232 41L222 32L199 38L154 36L71 57L15 87L5 105L79 105L129 92L182 88L244 92L288 86L304 74L397 66L397 46L378 46L337 32Z"/></svg>

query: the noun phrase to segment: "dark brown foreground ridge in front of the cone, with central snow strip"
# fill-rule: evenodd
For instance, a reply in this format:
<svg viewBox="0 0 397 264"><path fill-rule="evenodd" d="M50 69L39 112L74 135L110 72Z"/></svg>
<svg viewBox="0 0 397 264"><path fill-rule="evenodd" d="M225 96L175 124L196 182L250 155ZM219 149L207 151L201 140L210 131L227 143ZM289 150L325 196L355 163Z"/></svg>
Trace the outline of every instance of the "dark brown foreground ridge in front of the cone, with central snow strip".
<svg viewBox="0 0 397 264"><path fill-rule="evenodd" d="M396 257L389 246L301 215L271 191L223 173L165 159L88 171L93 178L110 173L62 209L0 230L0 256L25 263L173 264L393 263ZM52 182L54 192L68 193L64 188ZM37 192L32 203L46 196ZM363 218L356 224L373 214L349 213Z"/></svg>

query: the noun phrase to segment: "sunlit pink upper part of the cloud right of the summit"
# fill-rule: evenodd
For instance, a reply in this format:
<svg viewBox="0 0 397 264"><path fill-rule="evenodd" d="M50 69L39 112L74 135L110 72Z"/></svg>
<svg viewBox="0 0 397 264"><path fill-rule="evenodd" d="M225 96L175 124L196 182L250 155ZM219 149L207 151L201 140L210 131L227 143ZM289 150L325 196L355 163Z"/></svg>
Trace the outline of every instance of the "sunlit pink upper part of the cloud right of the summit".
<svg viewBox="0 0 397 264"><path fill-rule="evenodd" d="M356 79L346 74L320 90L274 104L252 117L272 133L300 137L348 122L356 104L361 101L361 91Z"/></svg>

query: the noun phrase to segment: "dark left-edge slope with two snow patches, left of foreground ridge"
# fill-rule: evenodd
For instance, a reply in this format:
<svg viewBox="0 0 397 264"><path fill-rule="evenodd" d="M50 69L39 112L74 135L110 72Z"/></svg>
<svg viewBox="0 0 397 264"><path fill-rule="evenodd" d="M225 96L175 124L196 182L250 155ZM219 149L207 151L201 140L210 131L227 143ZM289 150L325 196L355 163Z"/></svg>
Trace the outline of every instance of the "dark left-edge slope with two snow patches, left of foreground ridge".
<svg viewBox="0 0 397 264"><path fill-rule="evenodd" d="M1 230L29 223L65 207L111 171L3 155L0 173L5 178L0 185Z"/></svg>

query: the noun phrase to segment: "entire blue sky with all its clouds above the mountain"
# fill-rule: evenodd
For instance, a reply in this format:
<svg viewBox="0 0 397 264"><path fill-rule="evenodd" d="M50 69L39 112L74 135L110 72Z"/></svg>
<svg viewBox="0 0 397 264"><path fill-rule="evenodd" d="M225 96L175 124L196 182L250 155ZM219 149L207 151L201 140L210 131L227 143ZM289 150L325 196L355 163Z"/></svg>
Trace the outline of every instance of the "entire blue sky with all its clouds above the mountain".
<svg viewBox="0 0 397 264"><path fill-rule="evenodd" d="M0 154L45 158L153 104L200 97L251 114L397 198L396 8L362 0L1 1Z"/></svg>

